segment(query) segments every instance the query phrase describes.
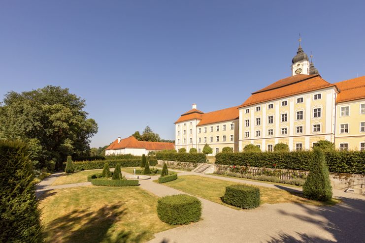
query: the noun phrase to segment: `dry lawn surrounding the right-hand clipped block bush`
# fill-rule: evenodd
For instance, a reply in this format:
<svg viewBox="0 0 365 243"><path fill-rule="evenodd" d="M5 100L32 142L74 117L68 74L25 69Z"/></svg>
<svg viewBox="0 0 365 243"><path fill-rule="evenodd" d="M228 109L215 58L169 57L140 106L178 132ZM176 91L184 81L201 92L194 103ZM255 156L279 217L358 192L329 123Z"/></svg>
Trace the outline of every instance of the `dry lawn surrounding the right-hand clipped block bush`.
<svg viewBox="0 0 365 243"><path fill-rule="evenodd" d="M164 183L164 185L166 186L170 186L172 188L226 206L228 205L222 202L221 197L224 196L224 193L226 191L226 186L232 184L237 184L237 183L223 181L219 179L200 177L200 176L180 176L175 181ZM323 206L323 205L334 205L339 202L339 200L336 199L332 199L329 202L317 202L304 198L301 193L293 193L283 189L268 188L264 186L255 186L255 187L260 188L261 204L304 203L316 206Z"/></svg>

